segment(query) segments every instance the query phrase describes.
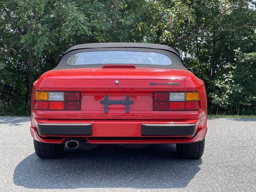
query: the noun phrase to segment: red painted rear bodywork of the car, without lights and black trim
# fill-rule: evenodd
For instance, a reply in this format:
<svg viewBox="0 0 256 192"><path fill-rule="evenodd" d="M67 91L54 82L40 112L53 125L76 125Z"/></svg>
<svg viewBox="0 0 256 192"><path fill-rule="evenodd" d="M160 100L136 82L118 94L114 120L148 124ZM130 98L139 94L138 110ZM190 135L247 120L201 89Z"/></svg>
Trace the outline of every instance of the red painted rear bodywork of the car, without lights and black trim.
<svg viewBox="0 0 256 192"><path fill-rule="evenodd" d="M118 80L119 84L114 84ZM178 82L180 85L150 85L150 82ZM80 111L33 110L35 90L79 91ZM201 109L197 111L153 111L154 91L198 90ZM100 100L104 95L110 100L124 100L126 95L134 104L130 113L125 105L109 105L104 113ZM52 70L34 82L30 131L35 140L48 143L64 143L71 136L38 135L37 123L91 123L92 136L85 137L89 143L186 143L203 140L207 131L207 106L204 82L187 70L158 68L80 68ZM193 137L141 136L141 124L196 124ZM49 138L51 136L51 138ZM113 139L110 139L113 138ZM143 139L138 139L143 138Z"/></svg>

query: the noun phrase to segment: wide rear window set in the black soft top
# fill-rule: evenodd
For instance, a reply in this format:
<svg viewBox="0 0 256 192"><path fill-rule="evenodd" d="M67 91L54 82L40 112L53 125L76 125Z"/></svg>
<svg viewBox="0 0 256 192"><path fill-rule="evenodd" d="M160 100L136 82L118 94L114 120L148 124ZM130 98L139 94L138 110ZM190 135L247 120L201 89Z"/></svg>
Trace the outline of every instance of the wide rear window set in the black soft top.
<svg viewBox="0 0 256 192"><path fill-rule="evenodd" d="M170 58L161 53L138 51L80 52L68 59L68 65L86 64L146 64L171 65Z"/></svg>

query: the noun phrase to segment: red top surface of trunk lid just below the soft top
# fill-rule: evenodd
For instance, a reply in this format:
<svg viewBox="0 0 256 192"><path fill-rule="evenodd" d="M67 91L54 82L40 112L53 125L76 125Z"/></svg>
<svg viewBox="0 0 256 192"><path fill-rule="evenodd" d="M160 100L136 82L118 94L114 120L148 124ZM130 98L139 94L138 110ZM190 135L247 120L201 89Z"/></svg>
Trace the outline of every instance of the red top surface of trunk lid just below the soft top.
<svg viewBox="0 0 256 192"><path fill-rule="evenodd" d="M188 70L161 68L80 68L51 70L49 79L85 80L85 79L166 79L178 80L188 77Z"/></svg>

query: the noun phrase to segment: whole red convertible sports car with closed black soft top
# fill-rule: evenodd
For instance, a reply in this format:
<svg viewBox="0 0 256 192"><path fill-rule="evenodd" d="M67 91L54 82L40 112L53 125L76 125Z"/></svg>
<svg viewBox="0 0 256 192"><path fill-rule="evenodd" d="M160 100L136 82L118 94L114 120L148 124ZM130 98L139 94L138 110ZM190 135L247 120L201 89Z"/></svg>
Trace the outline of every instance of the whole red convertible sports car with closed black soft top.
<svg viewBox="0 0 256 192"><path fill-rule="evenodd" d="M64 146L176 144L178 156L200 158L206 92L190 70L165 45L71 47L34 82L30 132L36 155L56 158Z"/></svg>

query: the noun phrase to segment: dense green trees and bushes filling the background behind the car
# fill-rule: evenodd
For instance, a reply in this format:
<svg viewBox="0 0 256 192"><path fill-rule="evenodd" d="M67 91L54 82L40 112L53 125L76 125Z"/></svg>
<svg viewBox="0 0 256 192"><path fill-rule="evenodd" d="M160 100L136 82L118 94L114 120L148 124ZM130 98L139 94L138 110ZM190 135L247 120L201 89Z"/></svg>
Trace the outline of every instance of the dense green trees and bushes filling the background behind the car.
<svg viewBox="0 0 256 192"><path fill-rule="evenodd" d="M34 80L92 42L170 45L204 80L210 113L255 114L255 26L250 0L2 0L0 114L29 115Z"/></svg>

